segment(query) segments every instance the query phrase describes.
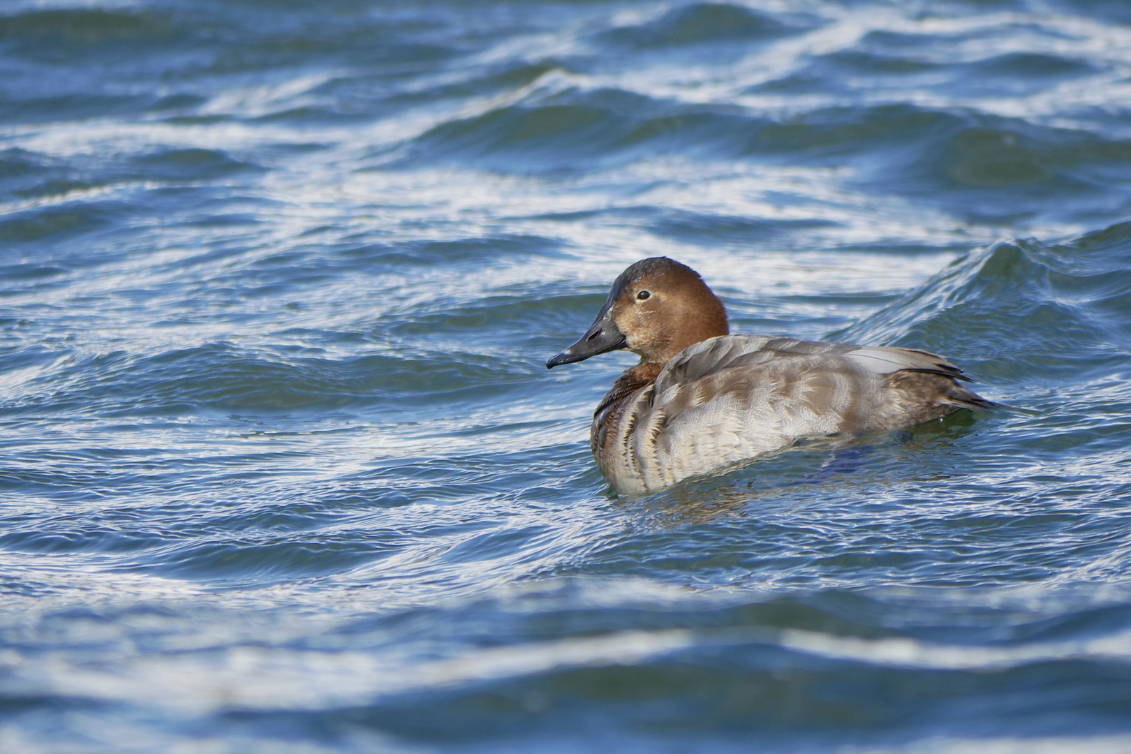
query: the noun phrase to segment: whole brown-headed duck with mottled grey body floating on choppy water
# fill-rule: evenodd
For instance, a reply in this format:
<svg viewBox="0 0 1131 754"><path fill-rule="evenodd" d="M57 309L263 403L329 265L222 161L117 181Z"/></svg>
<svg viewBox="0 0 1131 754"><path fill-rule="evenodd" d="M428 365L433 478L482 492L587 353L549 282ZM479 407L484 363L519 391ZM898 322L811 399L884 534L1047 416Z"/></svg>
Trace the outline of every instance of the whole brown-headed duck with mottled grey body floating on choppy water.
<svg viewBox="0 0 1131 754"><path fill-rule="evenodd" d="M901 430L996 404L918 348L731 335L726 307L667 257L618 276L593 324L546 367L628 349L640 362L597 405L593 456L634 495L784 450L804 437Z"/></svg>

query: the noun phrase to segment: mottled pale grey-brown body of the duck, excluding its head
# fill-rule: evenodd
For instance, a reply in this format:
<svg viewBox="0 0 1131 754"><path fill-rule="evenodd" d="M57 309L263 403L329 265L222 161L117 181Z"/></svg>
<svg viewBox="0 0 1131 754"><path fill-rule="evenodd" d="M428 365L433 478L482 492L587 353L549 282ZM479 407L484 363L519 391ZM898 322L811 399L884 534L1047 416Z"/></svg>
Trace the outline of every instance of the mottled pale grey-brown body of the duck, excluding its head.
<svg viewBox="0 0 1131 754"><path fill-rule="evenodd" d="M655 489L800 437L893 430L985 408L941 357L909 348L722 336L683 349L655 382L614 388L594 454L624 493Z"/></svg>

